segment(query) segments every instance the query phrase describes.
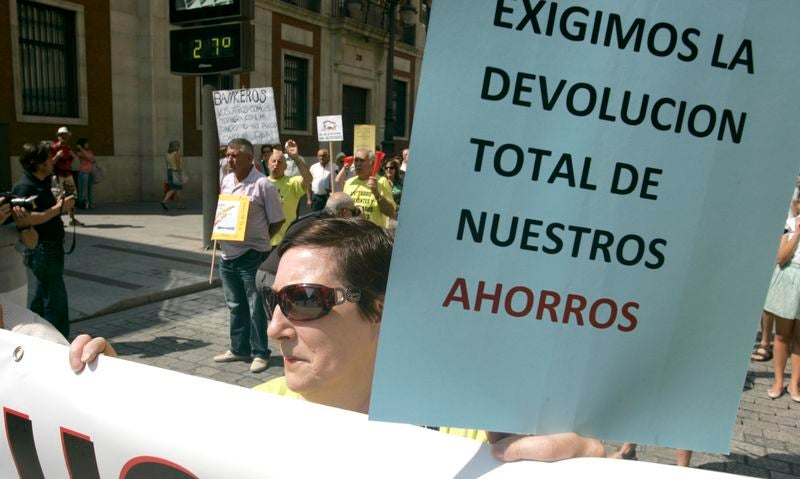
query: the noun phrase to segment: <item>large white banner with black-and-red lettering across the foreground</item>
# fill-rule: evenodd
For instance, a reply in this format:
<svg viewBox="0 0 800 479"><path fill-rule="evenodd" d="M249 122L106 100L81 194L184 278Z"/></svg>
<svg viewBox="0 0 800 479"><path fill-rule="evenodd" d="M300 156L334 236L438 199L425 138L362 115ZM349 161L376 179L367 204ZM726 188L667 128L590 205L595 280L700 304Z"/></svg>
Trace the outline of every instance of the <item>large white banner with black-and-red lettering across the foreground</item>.
<svg viewBox="0 0 800 479"><path fill-rule="evenodd" d="M486 444L129 361L75 374L64 346L3 330L0 377L2 478L733 477L610 459L500 464Z"/></svg>

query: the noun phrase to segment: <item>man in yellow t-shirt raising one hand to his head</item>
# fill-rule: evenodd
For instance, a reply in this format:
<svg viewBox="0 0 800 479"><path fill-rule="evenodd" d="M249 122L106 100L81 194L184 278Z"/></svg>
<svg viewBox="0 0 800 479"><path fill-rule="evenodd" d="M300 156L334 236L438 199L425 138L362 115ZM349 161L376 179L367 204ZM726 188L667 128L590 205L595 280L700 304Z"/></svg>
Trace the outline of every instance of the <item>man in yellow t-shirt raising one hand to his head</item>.
<svg viewBox="0 0 800 479"><path fill-rule="evenodd" d="M278 196L280 196L281 206L283 206L283 216L286 218L281 230L270 241L273 248L281 243L286 229L297 218L297 202L306 194L306 189L312 180L311 171L303 161L303 157L299 155L297 143L294 140L286 142L286 153L297 165L300 176L286 176L286 159L283 152L278 149L272 152L269 157L269 176L267 178L278 189Z"/></svg>

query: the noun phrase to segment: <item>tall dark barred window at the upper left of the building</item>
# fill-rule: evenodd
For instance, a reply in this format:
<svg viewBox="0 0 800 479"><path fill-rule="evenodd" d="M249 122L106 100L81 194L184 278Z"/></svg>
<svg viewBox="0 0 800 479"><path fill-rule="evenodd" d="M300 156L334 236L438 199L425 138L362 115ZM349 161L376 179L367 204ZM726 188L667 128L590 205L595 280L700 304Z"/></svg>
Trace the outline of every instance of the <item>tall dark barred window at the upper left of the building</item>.
<svg viewBox="0 0 800 479"><path fill-rule="evenodd" d="M77 118L75 12L19 0L22 113Z"/></svg>

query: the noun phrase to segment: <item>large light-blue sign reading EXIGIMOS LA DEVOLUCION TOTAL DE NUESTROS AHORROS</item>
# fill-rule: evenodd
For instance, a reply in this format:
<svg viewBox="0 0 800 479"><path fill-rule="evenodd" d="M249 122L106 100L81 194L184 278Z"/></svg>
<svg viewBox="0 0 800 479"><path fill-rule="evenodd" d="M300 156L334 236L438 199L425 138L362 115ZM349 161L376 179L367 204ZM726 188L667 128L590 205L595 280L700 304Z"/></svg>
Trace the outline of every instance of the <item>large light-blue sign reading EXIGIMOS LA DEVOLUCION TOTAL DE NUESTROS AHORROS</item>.
<svg viewBox="0 0 800 479"><path fill-rule="evenodd" d="M371 417L726 451L797 172L798 14L437 1Z"/></svg>

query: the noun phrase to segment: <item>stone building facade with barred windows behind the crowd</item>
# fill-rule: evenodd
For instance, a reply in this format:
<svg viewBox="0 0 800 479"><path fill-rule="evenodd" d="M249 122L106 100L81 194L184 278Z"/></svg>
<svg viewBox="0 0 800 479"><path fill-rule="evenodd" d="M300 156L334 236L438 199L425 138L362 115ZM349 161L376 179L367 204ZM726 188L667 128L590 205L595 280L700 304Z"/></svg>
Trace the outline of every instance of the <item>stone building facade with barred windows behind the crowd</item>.
<svg viewBox="0 0 800 479"><path fill-rule="evenodd" d="M394 50L397 151L411 133L429 10L428 0L404 1L417 14L398 27ZM224 89L272 87L281 139L295 139L312 158L319 115L341 113L346 133L375 124L383 138L385 2L362 0L356 14L348 3L255 0L254 69L223 77ZM54 139L65 125L73 143L90 140L106 171L97 202L159 198L175 139L198 180L185 195L200 197L202 80L170 72L168 7L168 0L0 2L0 190L21 173L22 145ZM348 151L349 143L336 146Z"/></svg>

